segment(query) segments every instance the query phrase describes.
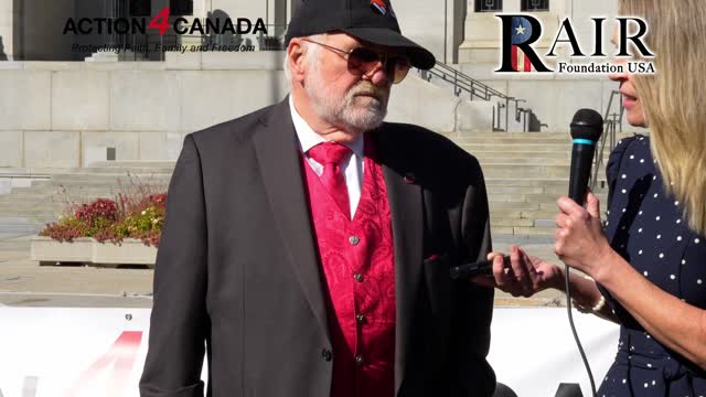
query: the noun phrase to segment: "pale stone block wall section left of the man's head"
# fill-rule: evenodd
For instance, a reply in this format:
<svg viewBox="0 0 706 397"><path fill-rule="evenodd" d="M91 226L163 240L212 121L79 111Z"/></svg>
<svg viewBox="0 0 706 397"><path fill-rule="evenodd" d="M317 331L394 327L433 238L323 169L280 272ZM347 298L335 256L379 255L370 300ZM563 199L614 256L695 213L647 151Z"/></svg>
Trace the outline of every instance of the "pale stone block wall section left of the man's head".
<svg viewBox="0 0 706 397"><path fill-rule="evenodd" d="M185 133L288 90L276 68L227 69L220 58L233 54L196 55L165 63L0 63L0 167L82 167L106 160L107 148L117 160L174 159ZM253 62L277 54L243 55Z"/></svg>

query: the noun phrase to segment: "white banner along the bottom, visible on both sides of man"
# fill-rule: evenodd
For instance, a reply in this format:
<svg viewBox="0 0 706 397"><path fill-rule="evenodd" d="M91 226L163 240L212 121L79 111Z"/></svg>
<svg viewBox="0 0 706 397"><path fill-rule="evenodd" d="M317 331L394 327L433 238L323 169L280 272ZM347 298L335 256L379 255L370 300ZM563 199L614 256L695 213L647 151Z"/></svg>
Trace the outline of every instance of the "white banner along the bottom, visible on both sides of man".
<svg viewBox="0 0 706 397"><path fill-rule="evenodd" d="M0 397L139 396L149 314L0 308ZM579 313L575 321L600 384L616 353L618 326ZM580 383L590 396L566 309L495 309L492 332L489 361L498 380L517 396L553 397L561 382Z"/></svg>

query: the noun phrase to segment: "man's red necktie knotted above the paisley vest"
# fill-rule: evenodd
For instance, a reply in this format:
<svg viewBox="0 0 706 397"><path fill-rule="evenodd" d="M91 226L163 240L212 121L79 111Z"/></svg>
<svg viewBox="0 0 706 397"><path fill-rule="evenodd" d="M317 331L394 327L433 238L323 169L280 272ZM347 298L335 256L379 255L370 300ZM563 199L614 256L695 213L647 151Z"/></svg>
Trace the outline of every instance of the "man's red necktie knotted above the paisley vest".
<svg viewBox="0 0 706 397"><path fill-rule="evenodd" d="M321 183L349 219L351 218L351 204L349 189L345 185L345 179L341 170L341 162L350 153L351 149L335 142L319 143L309 149L309 155L320 164L323 164Z"/></svg>

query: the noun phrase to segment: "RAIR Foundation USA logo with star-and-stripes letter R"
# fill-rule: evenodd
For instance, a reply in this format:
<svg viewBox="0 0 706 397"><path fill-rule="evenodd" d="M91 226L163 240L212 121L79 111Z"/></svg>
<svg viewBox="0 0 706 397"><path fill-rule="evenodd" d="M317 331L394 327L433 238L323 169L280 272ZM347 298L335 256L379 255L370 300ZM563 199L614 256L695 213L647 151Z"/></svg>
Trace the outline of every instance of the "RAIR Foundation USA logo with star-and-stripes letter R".
<svg viewBox="0 0 706 397"><path fill-rule="evenodd" d="M586 54L574 31L570 19L565 19L554 35L554 41L546 54L538 54L537 42L543 37L543 26L539 20L530 14L496 14L501 21L501 65L498 73L559 73L559 74L609 74L609 73L655 73L652 58L654 54L644 43L648 24L640 18L617 18L619 42L617 58L629 58L625 63L613 62L581 62L589 57L606 57L603 49L603 24L607 18L591 18L593 23L593 47L591 54ZM635 49L631 52L629 42ZM547 66L547 61L557 58L556 50L563 45L570 45L569 55L573 62L557 62L556 69Z"/></svg>

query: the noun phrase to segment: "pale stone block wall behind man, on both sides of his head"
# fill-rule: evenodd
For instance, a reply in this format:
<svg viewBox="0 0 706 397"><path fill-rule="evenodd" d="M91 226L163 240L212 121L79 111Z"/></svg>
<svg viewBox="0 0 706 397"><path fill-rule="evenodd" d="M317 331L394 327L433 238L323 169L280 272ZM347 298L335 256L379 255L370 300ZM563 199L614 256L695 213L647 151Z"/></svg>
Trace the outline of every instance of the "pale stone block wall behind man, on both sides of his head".
<svg viewBox="0 0 706 397"><path fill-rule="evenodd" d="M85 167L107 160L108 148L116 160L173 160L186 133L281 100L289 92L281 64L279 52L168 53L165 62L1 62L0 167ZM581 107L602 114L617 88L606 78L501 79L490 66L468 67L485 84L527 99L524 105L548 125L545 131L567 130ZM411 71L393 88L387 120L443 133L490 131L493 106L457 97Z"/></svg>

